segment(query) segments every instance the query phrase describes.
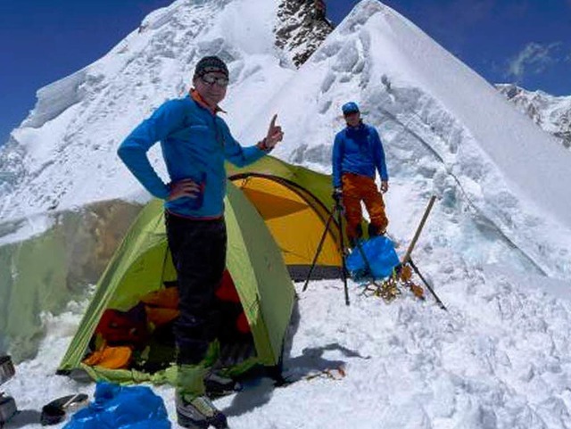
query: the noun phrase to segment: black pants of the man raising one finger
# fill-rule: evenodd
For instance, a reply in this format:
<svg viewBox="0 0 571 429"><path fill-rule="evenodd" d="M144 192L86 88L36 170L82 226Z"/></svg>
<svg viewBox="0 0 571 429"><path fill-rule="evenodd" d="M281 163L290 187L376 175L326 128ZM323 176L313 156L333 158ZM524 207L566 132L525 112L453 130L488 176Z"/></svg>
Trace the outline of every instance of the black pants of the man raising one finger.
<svg viewBox="0 0 571 429"><path fill-rule="evenodd" d="M221 315L215 291L226 268L226 223L224 219L185 219L168 212L165 219L178 274L177 363L195 365L219 332Z"/></svg>

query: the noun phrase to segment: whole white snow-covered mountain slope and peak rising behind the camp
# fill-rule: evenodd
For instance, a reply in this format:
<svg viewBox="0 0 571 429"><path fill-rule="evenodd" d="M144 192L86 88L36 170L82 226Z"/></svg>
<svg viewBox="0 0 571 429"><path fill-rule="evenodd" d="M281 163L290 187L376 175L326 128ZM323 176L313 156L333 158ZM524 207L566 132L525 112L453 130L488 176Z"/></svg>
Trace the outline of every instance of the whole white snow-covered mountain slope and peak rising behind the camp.
<svg viewBox="0 0 571 429"><path fill-rule="evenodd" d="M294 3L178 0L101 60L40 89L0 154L0 217L145 201L116 156L120 141L164 100L186 93L201 56L219 54L232 80L223 107L244 144L263 136L277 112L285 128L277 156L329 171L343 127L339 107L355 100L385 141L389 215L407 219L402 230L393 222L393 235L410 235L427 196L437 194L434 252L569 276L571 199L563 184L571 182L571 155L555 138L375 0L362 1L297 70L290 56L299 46L276 46ZM150 154L164 174L158 145Z"/></svg>

